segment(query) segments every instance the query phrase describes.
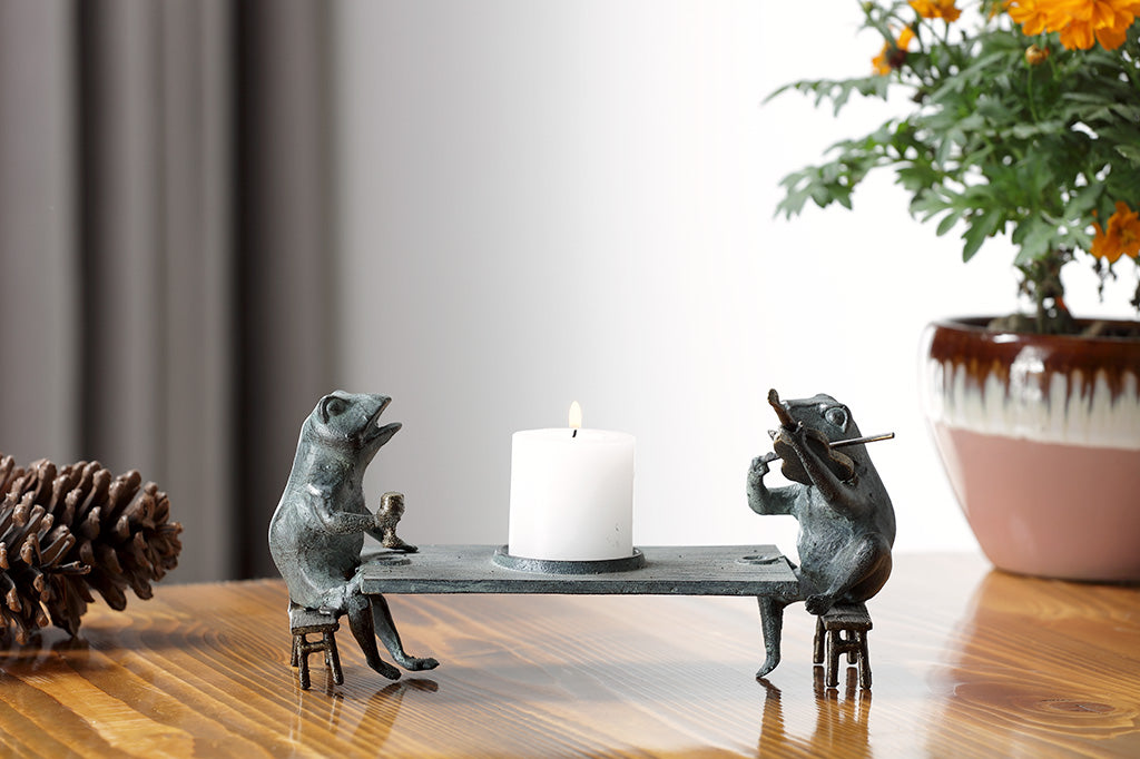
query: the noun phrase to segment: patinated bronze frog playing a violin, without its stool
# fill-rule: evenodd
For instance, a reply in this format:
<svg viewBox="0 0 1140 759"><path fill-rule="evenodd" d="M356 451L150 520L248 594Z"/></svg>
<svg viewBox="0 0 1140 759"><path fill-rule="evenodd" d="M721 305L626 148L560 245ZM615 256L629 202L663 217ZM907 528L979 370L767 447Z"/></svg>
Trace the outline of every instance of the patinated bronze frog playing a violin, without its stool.
<svg viewBox="0 0 1140 759"><path fill-rule="evenodd" d="M812 614L836 604L858 604L874 596L890 576L895 511L850 410L830 395L781 401L775 390L768 403L780 419L773 454L752 459L748 505L757 514L790 514L799 522L800 565L793 568L799 595ZM842 450L831 439L850 439ZM792 484L768 489L768 464L782 459ZM783 609L791 603L762 597L766 660L764 677L780 663ZM870 682L870 677L868 677Z"/></svg>

